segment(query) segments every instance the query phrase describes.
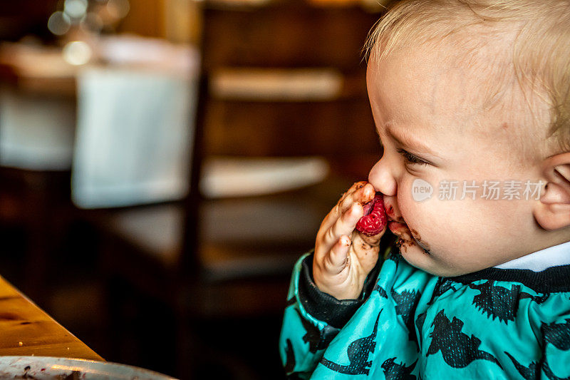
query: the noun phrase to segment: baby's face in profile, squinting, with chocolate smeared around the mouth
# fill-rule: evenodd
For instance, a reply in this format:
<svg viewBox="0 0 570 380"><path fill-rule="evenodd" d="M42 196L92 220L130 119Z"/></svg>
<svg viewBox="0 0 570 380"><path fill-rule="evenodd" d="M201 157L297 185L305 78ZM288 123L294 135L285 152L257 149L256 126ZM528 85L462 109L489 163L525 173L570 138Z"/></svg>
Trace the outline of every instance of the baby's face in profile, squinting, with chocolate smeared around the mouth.
<svg viewBox="0 0 570 380"><path fill-rule="evenodd" d="M527 181L530 190L544 184L538 184L539 153L524 148L531 128L521 126L527 111L515 106L516 95L484 108L485 79L477 76L484 66L462 68L445 63L447 56L418 48L368 64L368 95L384 146L368 179L385 194L388 218L404 222L389 224L401 237L403 257L432 274L453 276L544 248L544 231L532 215L537 193L524 193ZM485 181L499 183L498 200L484 197ZM427 184L433 192L422 200Z"/></svg>

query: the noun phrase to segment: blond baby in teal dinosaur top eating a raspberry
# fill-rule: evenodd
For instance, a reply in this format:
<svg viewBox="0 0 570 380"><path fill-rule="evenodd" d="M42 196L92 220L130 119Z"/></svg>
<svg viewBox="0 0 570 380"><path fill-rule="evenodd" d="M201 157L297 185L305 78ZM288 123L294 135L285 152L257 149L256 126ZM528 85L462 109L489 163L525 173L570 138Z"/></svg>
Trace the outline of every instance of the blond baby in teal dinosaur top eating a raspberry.
<svg viewBox="0 0 570 380"><path fill-rule="evenodd" d="M384 153L294 269L287 374L569 379L570 1L401 1L367 48Z"/></svg>

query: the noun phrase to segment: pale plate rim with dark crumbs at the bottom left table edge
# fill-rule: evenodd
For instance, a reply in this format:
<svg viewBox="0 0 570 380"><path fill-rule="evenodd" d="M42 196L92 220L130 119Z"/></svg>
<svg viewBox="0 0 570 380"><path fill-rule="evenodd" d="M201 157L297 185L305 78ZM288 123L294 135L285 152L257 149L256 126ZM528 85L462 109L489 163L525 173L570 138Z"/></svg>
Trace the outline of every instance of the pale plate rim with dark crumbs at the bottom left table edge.
<svg viewBox="0 0 570 380"><path fill-rule="evenodd" d="M175 380L124 364L47 356L0 356L0 379Z"/></svg>

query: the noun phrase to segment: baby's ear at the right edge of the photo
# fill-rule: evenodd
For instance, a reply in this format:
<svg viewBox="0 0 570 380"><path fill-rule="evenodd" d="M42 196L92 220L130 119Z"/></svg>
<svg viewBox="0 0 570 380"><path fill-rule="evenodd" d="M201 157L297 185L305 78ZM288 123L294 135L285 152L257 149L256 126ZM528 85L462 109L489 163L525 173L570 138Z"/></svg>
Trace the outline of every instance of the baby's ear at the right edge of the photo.
<svg viewBox="0 0 570 380"><path fill-rule="evenodd" d="M534 218L545 230L570 226L570 153L544 160L542 175L547 183Z"/></svg>

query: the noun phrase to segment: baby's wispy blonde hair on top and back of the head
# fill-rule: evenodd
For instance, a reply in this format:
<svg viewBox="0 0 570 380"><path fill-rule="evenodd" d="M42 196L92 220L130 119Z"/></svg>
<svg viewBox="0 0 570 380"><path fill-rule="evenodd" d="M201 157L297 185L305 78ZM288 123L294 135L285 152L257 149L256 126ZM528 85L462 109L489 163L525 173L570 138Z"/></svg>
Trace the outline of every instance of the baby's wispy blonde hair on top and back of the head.
<svg viewBox="0 0 570 380"><path fill-rule="evenodd" d="M489 38L517 32L509 52L512 61L503 66L512 65L519 86L531 88L546 102L551 110L549 136L556 140L556 150L569 151L570 0L399 1L368 36L366 57L379 62L404 46L429 46L458 34L454 46L468 55L477 43L469 43L469 31L460 32L470 28Z"/></svg>

